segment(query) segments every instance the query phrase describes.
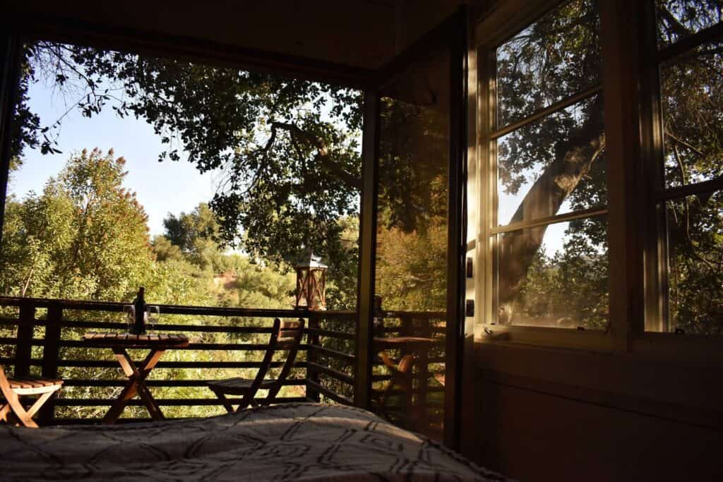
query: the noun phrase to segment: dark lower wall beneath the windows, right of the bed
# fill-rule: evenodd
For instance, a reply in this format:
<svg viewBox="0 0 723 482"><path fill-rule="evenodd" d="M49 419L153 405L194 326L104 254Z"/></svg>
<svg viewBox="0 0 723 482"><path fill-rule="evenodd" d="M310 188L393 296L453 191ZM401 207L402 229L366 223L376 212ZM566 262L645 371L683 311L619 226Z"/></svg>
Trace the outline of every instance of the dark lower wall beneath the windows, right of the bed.
<svg viewBox="0 0 723 482"><path fill-rule="evenodd" d="M474 346L462 452L521 481L722 480L713 367Z"/></svg>

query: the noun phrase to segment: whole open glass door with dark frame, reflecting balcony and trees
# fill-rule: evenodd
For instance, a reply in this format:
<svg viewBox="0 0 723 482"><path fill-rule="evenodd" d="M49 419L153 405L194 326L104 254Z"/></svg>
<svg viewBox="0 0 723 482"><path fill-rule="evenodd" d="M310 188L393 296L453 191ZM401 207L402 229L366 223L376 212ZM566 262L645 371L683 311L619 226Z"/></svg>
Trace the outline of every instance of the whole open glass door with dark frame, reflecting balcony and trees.
<svg viewBox="0 0 723 482"><path fill-rule="evenodd" d="M456 446L466 216L466 19L455 14L367 91L356 403ZM360 386L364 385L364 386Z"/></svg>

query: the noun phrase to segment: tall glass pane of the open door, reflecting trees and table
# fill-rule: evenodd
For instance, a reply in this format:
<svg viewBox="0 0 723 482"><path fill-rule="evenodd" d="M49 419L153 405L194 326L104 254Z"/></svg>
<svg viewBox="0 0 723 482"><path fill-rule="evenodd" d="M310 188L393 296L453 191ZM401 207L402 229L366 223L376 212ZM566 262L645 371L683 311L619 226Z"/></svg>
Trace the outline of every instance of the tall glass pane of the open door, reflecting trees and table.
<svg viewBox="0 0 723 482"><path fill-rule="evenodd" d="M433 53L380 102L373 406L435 439L444 419L449 72L448 53Z"/></svg>

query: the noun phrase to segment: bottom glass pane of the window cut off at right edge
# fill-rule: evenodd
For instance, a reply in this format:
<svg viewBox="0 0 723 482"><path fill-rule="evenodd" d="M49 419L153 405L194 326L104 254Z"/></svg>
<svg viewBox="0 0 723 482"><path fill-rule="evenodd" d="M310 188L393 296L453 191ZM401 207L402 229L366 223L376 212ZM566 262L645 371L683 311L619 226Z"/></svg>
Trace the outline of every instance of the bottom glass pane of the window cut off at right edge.
<svg viewBox="0 0 723 482"><path fill-rule="evenodd" d="M723 334L723 193L667 202L669 324Z"/></svg>

